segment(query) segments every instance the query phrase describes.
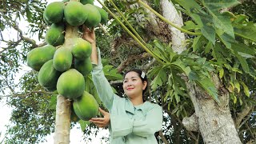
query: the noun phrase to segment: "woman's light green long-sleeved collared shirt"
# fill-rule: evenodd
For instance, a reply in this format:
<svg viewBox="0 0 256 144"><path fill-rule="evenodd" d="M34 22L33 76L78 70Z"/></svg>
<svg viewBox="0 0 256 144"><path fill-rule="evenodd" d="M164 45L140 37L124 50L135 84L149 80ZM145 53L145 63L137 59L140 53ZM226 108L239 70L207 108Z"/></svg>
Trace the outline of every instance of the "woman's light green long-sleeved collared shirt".
<svg viewBox="0 0 256 144"><path fill-rule="evenodd" d="M114 94L103 70L98 50L98 66L92 71L98 96L110 113L111 144L158 143L154 133L162 128L162 107L150 102L133 106L129 98Z"/></svg>

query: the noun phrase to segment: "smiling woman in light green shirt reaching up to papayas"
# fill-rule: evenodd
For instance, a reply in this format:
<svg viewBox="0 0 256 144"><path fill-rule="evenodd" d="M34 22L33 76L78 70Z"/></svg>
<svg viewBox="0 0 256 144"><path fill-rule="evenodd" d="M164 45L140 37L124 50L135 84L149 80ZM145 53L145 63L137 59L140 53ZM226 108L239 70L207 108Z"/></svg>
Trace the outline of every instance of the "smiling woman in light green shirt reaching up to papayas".
<svg viewBox="0 0 256 144"><path fill-rule="evenodd" d="M109 126L110 143L154 144L158 143L154 133L162 128L162 107L144 102L147 79L141 70L130 70L125 74L123 90L126 98L114 94L102 71L100 51L96 48L94 29L86 28L83 38L91 43L91 62L94 65L92 78L102 103L109 113L99 109L104 118L91 118L98 127Z"/></svg>

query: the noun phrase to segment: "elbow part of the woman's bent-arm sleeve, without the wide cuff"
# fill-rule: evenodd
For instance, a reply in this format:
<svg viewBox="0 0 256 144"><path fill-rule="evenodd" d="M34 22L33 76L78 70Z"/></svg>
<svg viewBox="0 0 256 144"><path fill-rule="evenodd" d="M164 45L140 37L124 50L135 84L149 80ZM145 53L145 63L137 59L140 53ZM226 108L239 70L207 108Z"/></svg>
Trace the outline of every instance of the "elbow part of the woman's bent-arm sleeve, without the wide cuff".
<svg viewBox="0 0 256 144"><path fill-rule="evenodd" d="M162 129L162 107L156 105L147 114L145 120L135 120L132 133L148 137Z"/></svg>

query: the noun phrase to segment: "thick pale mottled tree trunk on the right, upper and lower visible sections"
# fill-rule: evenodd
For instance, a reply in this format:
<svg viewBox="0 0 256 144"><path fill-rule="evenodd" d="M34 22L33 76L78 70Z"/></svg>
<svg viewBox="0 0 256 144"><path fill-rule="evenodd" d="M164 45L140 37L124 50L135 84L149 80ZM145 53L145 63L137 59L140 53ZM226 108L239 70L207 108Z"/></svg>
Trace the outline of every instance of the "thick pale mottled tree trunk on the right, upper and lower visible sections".
<svg viewBox="0 0 256 144"><path fill-rule="evenodd" d="M161 6L165 18L178 26L182 26L181 15L178 14L173 3L169 0L161 0ZM185 36L179 30L175 30L174 27L169 27L172 33L172 48L180 54L186 49L182 44ZM222 92L218 95L221 101L220 104L210 98L208 94L196 88L194 84L186 81L195 114L190 118L184 118L183 125L187 130L199 130L205 143L241 143L230 114L229 93L222 87L218 76L214 75L213 81L217 90Z"/></svg>

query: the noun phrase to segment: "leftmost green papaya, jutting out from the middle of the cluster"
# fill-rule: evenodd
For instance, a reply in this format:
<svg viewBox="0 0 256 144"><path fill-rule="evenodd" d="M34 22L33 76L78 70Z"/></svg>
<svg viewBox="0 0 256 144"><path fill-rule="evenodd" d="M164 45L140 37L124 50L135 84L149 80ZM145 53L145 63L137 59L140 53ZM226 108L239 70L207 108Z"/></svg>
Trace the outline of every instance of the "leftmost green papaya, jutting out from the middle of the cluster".
<svg viewBox="0 0 256 144"><path fill-rule="evenodd" d="M54 58L55 47L46 45L30 50L27 54L26 62L33 70L39 71L42 65Z"/></svg>

